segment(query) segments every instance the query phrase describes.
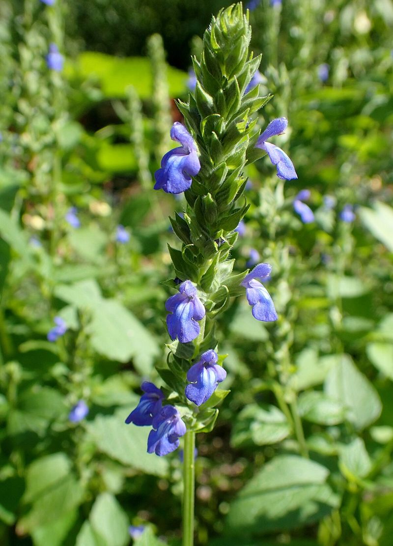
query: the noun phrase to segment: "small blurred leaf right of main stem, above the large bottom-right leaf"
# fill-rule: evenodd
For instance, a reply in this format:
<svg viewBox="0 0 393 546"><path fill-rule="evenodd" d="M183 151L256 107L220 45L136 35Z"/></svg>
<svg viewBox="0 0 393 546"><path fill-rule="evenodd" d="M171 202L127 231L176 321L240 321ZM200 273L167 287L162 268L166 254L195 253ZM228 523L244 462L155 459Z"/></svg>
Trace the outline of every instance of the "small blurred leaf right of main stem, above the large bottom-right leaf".
<svg viewBox="0 0 393 546"><path fill-rule="evenodd" d="M276 406L249 404L236 418L231 444L234 447L265 446L281 442L290 431L287 419Z"/></svg>

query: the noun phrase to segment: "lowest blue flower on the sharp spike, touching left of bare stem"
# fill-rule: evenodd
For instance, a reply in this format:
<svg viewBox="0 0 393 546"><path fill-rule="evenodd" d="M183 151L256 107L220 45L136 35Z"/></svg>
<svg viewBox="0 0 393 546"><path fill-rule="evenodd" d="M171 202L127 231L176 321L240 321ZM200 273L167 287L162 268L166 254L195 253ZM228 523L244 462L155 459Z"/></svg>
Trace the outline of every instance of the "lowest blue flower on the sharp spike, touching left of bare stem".
<svg viewBox="0 0 393 546"><path fill-rule="evenodd" d="M174 406L164 406L153 418L153 430L147 438L147 453L167 455L179 446L180 436L186 434L186 425Z"/></svg>

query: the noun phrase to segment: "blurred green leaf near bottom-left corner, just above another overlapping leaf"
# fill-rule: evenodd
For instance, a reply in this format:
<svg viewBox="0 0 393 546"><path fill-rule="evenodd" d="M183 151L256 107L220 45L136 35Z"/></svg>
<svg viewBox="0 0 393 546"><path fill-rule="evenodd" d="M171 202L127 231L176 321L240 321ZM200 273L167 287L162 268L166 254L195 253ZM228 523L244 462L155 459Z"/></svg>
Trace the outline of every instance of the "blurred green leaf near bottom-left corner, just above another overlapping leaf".
<svg viewBox="0 0 393 546"><path fill-rule="evenodd" d="M36 497L70 472L72 463L65 453L53 453L35 459L26 471L26 490L23 502L32 502Z"/></svg>

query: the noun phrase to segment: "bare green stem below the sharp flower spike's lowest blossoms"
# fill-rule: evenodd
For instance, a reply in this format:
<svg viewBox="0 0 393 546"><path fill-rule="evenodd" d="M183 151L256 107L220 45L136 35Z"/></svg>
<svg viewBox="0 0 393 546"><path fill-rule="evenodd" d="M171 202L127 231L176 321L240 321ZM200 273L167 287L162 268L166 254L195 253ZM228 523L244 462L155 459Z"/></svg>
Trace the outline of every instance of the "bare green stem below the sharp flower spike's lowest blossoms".
<svg viewBox="0 0 393 546"><path fill-rule="evenodd" d="M183 454L183 546L194 544L194 468L195 432L188 431L184 436Z"/></svg>

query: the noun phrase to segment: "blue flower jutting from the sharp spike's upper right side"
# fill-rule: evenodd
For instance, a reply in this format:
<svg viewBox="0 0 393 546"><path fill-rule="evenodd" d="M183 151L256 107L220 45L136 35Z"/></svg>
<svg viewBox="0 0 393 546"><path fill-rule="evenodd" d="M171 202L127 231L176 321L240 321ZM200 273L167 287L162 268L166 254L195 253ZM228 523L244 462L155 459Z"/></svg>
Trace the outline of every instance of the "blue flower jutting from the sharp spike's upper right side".
<svg viewBox="0 0 393 546"><path fill-rule="evenodd" d="M273 165L277 166L277 176L283 180L293 180L297 178L295 167L287 154L275 144L267 142L267 139L274 135L279 135L285 132L288 127L288 120L285 117L277 117L271 121L264 132L259 136L256 148L265 150L270 157Z"/></svg>

